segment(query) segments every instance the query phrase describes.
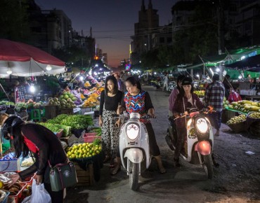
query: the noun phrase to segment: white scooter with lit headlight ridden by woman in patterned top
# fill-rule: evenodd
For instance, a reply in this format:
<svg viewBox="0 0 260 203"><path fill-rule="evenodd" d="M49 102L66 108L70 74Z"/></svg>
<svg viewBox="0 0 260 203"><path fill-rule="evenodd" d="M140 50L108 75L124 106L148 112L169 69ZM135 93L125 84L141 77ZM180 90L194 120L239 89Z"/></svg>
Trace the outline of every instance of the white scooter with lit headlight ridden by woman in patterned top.
<svg viewBox="0 0 260 203"><path fill-rule="evenodd" d="M138 188L138 179L143 168L141 164L148 169L151 160L148 132L139 119L139 113L130 113L129 120L122 125L119 134L120 158L129 175L131 190Z"/></svg>

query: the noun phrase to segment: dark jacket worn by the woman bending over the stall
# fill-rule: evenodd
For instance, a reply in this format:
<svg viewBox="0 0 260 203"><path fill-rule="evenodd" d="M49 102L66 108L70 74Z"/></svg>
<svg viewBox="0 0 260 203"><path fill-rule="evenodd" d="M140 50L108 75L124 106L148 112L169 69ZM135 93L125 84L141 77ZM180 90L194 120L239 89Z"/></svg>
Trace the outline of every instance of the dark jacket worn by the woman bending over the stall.
<svg viewBox="0 0 260 203"><path fill-rule="evenodd" d="M21 179L25 179L27 176L31 176L37 172L38 175L43 175L45 179L48 180L48 172L50 169L48 167L48 161L54 166L58 163L64 163L67 160L60 140L51 130L35 123L23 125L21 131L26 139L31 141L31 143L26 145L29 147L31 144L30 149L37 149L36 152L31 150L36 160L34 165L19 172Z"/></svg>

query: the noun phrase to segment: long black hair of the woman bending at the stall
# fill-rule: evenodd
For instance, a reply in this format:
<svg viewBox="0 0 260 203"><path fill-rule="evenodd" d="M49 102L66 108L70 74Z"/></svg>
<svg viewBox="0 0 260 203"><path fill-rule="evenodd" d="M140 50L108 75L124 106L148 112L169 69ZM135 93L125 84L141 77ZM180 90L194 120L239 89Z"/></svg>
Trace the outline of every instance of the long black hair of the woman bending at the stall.
<svg viewBox="0 0 260 203"><path fill-rule="evenodd" d="M22 155L22 158L26 158L29 155L29 148L26 146L24 138L21 134L22 126L25 125L24 123L13 127L11 135L13 139L10 140L11 145L15 148L15 157L19 158Z"/></svg>

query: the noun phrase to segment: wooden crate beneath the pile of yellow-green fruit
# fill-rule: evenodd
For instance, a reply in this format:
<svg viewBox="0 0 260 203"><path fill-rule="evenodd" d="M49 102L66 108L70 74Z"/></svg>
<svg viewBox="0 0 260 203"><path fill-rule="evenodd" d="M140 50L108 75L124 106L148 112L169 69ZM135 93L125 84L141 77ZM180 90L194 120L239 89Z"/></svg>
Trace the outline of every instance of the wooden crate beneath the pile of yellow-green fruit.
<svg viewBox="0 0 260 203"><path fill-rule="evenodd" d="M74 165L77 172L77 186L93 186L93 165L89 164L86 171L79 167L77 162L74 162Z"/></svg>

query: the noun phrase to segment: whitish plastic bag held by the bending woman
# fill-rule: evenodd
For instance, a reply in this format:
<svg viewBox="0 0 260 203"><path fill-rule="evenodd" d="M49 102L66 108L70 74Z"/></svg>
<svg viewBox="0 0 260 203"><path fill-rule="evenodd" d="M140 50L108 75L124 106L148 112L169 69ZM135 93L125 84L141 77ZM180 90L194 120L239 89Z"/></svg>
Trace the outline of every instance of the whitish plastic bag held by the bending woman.
<svg viewBox="0 0 260 203"><path fill-rule="evenodd" d="M34 179L32 181L32 195L22 200L22 203L51 203L51 196L44 189L44 183L37 186Z"/></svg>

